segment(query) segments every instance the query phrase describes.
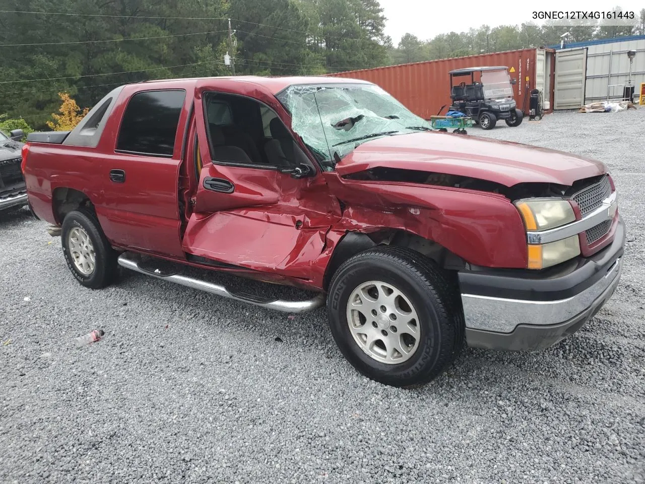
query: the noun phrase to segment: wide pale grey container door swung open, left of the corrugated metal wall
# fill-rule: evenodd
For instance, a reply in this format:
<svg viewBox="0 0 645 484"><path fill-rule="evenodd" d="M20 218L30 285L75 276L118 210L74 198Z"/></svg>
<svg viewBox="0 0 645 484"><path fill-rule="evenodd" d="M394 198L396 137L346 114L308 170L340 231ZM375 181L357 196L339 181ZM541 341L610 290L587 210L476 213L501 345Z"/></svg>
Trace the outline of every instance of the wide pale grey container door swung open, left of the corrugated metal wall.
<svg viewBox="0 0 645 484"><path fill-rule="evenodd" d="M554 109L577 109L584 104L586 73L586 47L559 50L555 53Z"/></svg>

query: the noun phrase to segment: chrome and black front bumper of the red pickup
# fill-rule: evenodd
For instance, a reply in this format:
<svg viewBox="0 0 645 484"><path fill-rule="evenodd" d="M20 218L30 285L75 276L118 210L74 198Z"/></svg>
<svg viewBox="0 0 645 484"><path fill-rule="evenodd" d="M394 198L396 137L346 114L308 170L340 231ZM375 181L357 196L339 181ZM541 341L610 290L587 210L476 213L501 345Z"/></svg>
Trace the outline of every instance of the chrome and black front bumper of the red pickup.
<svg viewBox="0 0 645 484"><path fill-rule="evenodd" d="M470 347L526 351L548 348L579 330L620 281L625 227L591 257L540 271L459 272Z"/></svg>

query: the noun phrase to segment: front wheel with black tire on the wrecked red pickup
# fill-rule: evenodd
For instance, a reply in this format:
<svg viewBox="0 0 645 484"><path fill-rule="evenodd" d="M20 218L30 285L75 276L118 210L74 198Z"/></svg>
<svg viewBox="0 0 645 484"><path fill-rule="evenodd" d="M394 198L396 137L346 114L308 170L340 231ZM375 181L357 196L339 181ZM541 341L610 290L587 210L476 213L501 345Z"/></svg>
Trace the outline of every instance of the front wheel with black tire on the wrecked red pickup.
<svg viewBox="0 0 645 484"><path fill-rule="evenodd" d="M402 247L371 248L345 261L332 278L327 299L330 328L343 356L364 376L393 387L422 385L436 378L457 357L464 341L461 297L456 277L451 276L419 252ZM394 302L385 313L385 306L379 307L384 299L379 297L371 303L364 299L364 307L349 306L357 302L359 288L369 287L372 281L381 285L377 288L379 296L395 297L388 300ZM400 296L394 292L388 295L389 290ZM366 291L361 293L362 298L374 297L373 288ZM364 315L361 318L362 313L354 309L357 307L372 316L372 311L381 310L374 317L379 322L368 321ZM399 314L395 321L392 311ZM410 316L404 318L399 311L417 316L416 325L406 325ZM417 335L412 337L413 342L410 327L415 327ZM365 334L360 334L361 330ZM381 338L384 333L388 336ZM380 343L373 339L366 345L368 334L380 338ZM397 341L401 351L395 351Z"/></svg>

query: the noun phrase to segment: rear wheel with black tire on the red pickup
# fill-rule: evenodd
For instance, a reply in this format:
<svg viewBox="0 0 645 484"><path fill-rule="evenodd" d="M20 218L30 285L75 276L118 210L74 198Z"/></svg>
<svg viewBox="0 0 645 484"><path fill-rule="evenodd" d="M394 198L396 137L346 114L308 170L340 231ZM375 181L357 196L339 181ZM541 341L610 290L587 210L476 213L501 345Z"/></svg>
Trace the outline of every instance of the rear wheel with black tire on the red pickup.
<svg viewBox="0 0 645 484"><path fill-rule="evenodd" d="M119 267L117 252L92 211L77 208L65 216L61 243L67 267L81 285L100 289L114 281Z"/></svg>

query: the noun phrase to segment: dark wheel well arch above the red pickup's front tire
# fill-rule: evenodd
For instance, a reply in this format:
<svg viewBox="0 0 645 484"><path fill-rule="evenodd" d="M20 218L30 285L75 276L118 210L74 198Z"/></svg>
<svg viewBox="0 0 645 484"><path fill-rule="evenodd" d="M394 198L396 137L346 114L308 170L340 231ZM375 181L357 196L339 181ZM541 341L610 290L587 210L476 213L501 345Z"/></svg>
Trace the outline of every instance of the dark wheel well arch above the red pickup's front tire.
<svg viewBox="0 0 645 484"><path fill-rule="evenodd" d="M410 248L428 257L428 259L432 259L439 267L447 270L460 270L466 267L466 261L446 247L405 230L385 228L370 232L370 234L347 232L339 241L327 265L324 276L324 290L327 290L333 274L341 267L344 261L363 250L377 245Z"/></svg>

